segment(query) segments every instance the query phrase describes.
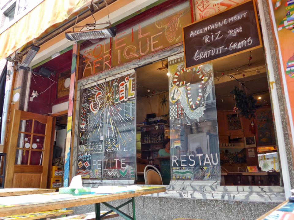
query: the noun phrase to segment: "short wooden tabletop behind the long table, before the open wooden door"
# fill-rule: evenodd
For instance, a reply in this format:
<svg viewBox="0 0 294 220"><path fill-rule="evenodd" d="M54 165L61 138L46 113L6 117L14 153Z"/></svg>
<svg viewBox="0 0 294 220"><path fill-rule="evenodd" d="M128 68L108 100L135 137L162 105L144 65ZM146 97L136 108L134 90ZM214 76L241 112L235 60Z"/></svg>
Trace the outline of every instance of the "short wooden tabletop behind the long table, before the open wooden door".
<svg viewBox="0 0 294 220"><path fill-rule="evenodd" d="M55 189L5 188L0 189L0 196L19 196L27 194L54 193L55 191Z"/></svg>

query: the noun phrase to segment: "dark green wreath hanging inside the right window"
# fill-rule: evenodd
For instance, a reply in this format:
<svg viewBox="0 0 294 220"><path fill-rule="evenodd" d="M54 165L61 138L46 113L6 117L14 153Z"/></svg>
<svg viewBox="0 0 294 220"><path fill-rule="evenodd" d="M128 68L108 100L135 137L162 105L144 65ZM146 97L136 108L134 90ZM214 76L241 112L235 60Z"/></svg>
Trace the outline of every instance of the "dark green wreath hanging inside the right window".
<svg viewBox="0 0 294 220"><path fill-rule="evenodd" d="M237 87L232 90L231 94L234 95L236 108L238 108L240 115L247 119L255 118L254 113L261 107L261 105L256 105L257 100Z"/></svg>

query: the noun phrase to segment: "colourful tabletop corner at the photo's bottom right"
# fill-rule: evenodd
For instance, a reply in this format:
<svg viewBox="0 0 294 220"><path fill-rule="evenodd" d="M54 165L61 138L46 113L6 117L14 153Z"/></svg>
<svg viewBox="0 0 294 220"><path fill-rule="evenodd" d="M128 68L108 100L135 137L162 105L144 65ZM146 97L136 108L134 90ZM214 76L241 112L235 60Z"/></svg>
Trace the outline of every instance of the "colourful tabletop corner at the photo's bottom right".
<svg viewBox="0 0 294 220"><path fill-rule="evenodd" d="M294 219L294 203L286 200L256 220Z"/></svg>

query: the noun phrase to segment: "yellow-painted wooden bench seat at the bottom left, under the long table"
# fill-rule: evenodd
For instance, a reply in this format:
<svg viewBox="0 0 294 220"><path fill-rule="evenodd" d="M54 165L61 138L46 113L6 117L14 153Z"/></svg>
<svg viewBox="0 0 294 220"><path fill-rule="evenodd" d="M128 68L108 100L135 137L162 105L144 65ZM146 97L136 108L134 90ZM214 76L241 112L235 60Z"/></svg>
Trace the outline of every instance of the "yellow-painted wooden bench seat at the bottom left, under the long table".
<svg viewBox="0 0 294 220"><path fill-rule="evenodd" d="M41 212L32 212L24 215L11 215L0 217L0 220L13 220L13 219L25 219L25 220L34 220L40 218L52 218L58 217L61 215L70 215L73 214L74 211L72 210L64 210L64 209L57 209L51 211L41 211Z"/></svg>

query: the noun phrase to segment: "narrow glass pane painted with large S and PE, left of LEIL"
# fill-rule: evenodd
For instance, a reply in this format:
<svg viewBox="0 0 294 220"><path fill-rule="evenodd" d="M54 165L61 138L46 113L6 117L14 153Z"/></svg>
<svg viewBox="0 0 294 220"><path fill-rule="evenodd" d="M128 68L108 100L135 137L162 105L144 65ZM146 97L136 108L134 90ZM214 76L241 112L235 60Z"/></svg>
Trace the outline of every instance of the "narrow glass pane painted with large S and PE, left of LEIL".
<svg viewBox="0 0 294 220"><path fill-rule="evenodd" d="M101 179L105 82L81 91L77 174Z"/></svg>

